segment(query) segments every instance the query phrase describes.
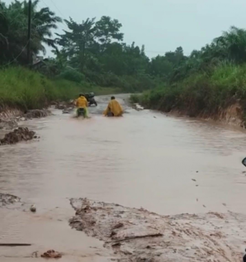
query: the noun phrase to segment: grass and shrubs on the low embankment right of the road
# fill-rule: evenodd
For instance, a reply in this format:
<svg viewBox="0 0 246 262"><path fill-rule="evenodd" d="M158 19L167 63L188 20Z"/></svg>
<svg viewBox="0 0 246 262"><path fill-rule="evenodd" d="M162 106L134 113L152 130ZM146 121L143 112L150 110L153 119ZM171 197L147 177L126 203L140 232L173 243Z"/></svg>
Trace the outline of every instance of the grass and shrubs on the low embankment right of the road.
<svg viewBox="0 0 246 262"><path fill-rule="evenodd" d="M131 97L134 103L147 108L177 110L190 116L216 114L219 108L226 108L237 99L246 109L246 64L224 63L211 72L192 74L181 82L159 85Z"/></svg>

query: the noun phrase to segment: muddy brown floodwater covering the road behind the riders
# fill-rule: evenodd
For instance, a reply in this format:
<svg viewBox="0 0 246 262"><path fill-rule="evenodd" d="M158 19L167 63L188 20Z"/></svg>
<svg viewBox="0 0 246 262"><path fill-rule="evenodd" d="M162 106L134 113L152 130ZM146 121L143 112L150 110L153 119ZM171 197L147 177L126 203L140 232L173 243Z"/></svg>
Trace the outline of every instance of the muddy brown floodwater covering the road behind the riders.
<svg viewBox="0 0 246 262"><path fill-rule="evenodd" d="M120 98L124 103L127 95ZM33 252L49 249L64 253L59 261L108 261L103 243L69 228L72 197L161 215L246 214L245 132L136 111L125 103L124 117L104 118L108 99L97 99L91 119L54 110L54 115L27 121L40 141L0 147L0 191L25 202L22 208L0 209L0 243L32 244L0 247L1 261L32 261ZM31 204L36 204L35 214Z"/></svg>

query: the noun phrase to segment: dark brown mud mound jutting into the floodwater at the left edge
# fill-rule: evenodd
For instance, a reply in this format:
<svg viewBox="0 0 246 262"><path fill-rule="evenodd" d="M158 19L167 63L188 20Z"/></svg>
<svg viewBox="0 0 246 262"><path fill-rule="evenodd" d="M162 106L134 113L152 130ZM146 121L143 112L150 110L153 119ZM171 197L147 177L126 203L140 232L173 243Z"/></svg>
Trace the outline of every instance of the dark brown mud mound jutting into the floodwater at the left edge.
<svg viewBox="0 0 246 262"><path fill-rule="evenodd" d="M15 144L20 141L27 141L34 138L35 132L27 127L18 127L14 131L5 134L3 139L0 139L0 145Z"/></svg>

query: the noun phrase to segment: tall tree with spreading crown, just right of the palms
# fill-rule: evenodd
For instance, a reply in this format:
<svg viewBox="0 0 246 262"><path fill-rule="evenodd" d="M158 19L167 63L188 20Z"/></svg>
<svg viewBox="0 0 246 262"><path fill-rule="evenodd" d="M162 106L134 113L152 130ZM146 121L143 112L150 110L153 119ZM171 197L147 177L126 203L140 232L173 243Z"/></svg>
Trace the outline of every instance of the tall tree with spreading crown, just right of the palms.
<svg viewBox="0 0 246 262"><path fill-rule="evenodd" d="M57 34L57 42L62 46L62 52L71 65L82 72L88 65L95 66L98 55L113 40L123 40L123 34L119 32L121 24L108 16L103 16L97 22L95 18L87 18L82 23L69 18L65 22L69 30L64 30L64 34Z"/></svg>

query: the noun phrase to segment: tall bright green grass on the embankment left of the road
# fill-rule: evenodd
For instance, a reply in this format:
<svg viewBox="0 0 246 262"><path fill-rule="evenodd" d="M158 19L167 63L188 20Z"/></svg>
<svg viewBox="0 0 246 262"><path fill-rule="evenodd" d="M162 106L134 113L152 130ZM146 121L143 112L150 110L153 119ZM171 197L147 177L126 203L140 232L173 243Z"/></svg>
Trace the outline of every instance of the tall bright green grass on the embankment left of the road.
<svg viewBox="0 0 246 262"><path fill-rule="evenodd" d="M65 79L48 79L24 67L0 70L0 106L38 109L54 100L69 100L80 92L104 95L119 92L116 88L102 88L87 82L76 83Z"/></svg>

